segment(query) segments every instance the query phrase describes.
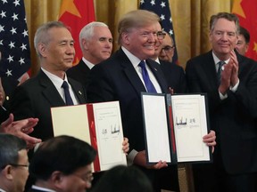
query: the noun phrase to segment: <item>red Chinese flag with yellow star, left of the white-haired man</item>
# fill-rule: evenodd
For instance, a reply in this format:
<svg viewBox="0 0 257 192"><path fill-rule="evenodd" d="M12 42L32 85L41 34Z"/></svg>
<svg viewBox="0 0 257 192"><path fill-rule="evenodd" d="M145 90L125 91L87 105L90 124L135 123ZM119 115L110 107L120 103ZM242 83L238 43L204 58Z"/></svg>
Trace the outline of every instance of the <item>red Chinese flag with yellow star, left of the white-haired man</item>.
<svg viewBox="0 0 257 192"><path fill-rule="evenodd" d="M62 0L59 20L70 27L76 51L73 63L77 64L82 58L79 46L79 32L87 23L95 20L94 0Z"/></svg>

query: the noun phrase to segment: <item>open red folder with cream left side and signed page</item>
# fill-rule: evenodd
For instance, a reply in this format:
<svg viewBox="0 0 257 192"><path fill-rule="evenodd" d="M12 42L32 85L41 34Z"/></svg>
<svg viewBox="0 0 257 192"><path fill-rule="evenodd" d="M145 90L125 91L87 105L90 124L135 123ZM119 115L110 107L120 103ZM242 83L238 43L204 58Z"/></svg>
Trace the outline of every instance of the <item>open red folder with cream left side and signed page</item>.
<svg viewBox="0 0 257 192"><path fill-rule="evenodd" d="M70 135L97 150L94 171L127 164L118 101L51 108L54 136Z"/></svg>

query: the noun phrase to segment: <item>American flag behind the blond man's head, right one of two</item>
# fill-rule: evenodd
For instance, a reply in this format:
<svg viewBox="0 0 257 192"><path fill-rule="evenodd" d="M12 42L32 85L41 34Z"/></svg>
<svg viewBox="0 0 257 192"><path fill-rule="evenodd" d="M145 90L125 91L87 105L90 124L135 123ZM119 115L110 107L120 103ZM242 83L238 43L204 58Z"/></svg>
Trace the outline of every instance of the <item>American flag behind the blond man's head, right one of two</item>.
<svg viewBox="0 0 257 192"><path fill-rule="evenodd" d="M161 18L162 29L170 34L175 43L169 0L140 0L139 9L155 12ZM175 49L173 60L178 62L178 53Z"/></svg>

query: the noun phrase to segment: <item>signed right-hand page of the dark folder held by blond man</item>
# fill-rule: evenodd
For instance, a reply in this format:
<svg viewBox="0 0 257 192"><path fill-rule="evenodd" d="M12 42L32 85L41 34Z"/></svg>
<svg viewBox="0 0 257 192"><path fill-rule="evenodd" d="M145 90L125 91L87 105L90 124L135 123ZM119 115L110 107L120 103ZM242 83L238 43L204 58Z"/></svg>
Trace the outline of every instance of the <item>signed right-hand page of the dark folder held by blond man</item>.
<svg viewBox="0 0 257 192"><path fill-rule="evenodd" d="M173 122L178 162L209 161L209 147L203 143L208 133L204 96L172 95Z"/></svg>

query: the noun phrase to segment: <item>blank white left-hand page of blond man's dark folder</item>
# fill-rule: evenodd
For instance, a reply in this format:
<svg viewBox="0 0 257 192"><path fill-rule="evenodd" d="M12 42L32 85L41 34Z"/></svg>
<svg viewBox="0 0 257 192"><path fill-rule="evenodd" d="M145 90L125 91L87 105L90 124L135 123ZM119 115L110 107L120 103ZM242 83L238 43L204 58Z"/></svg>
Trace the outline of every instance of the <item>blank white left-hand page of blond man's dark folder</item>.
<svg viewBox="0 0 257 192"><path fill-rule="evenodd" d="M171 163L165 96L143 95L143 108L149 163Z"/></svg>

